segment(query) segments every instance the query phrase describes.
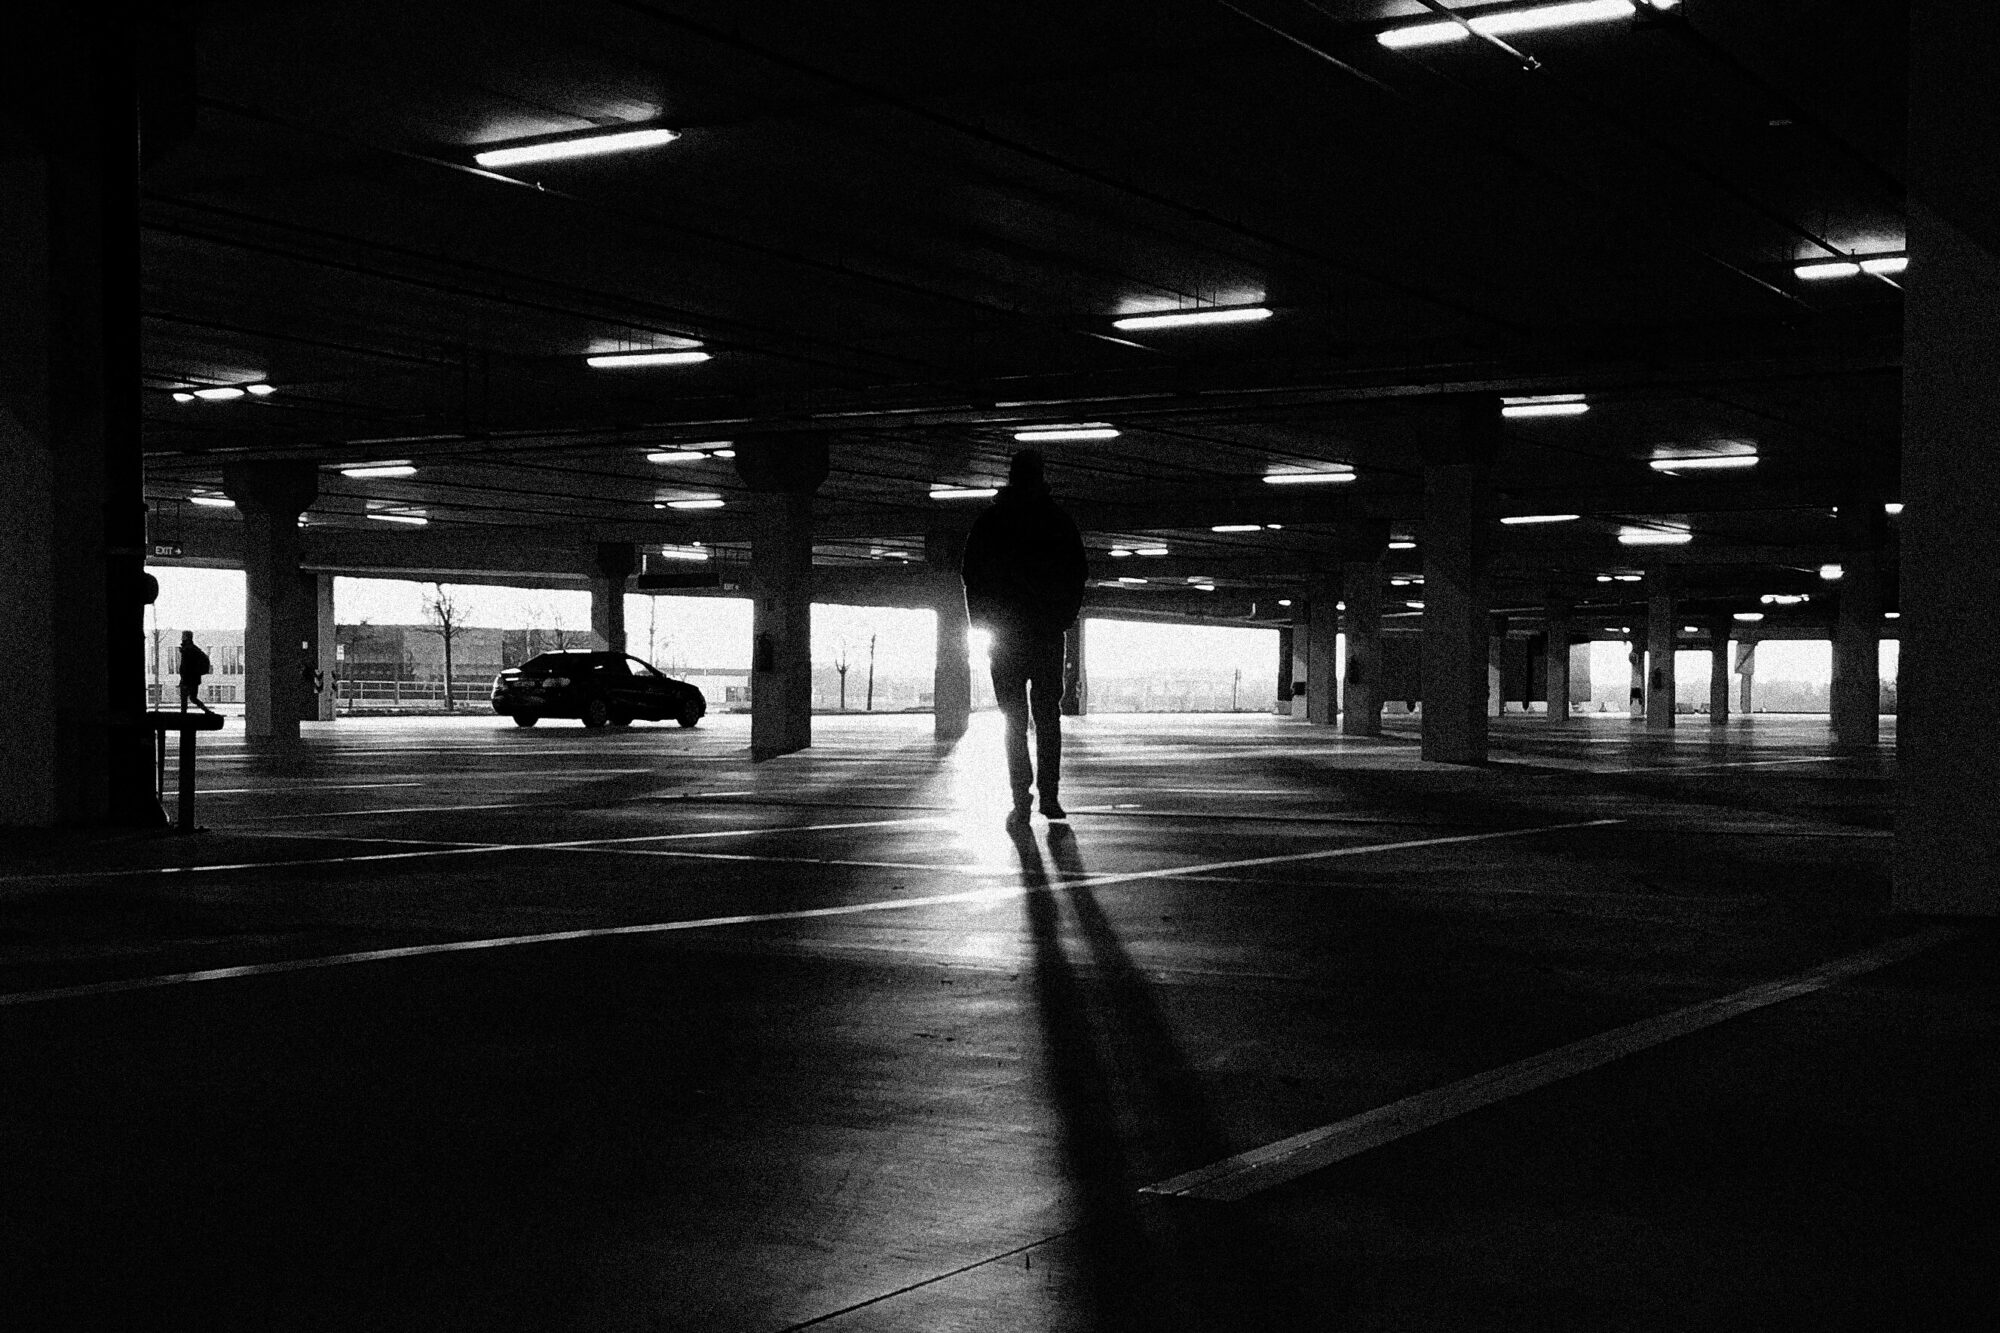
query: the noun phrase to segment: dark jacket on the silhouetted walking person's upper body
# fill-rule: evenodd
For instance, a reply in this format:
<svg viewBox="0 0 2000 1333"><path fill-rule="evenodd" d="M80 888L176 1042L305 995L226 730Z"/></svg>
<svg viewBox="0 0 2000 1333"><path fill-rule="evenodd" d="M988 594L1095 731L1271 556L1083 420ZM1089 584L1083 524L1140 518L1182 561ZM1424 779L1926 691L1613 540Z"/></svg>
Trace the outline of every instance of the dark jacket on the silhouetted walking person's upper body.
<svg viewBox="0 0 2000 1333"><path fill-rule="evenodd" d="M962 564L966 610L998 640L1060 638L1084 606L1084 538L1046 490L1006 486L978 516Z"/></svg>

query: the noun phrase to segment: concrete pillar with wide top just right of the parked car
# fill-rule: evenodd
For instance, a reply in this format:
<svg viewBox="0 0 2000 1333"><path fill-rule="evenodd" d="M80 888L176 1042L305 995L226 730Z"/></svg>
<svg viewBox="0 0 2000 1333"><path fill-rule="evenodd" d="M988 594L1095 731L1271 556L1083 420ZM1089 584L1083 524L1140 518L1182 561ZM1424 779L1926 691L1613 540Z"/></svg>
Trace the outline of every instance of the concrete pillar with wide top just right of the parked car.
<svg viewBox="0 0 2000 1333"><path fill-rule="evenodd" d="M812 492L824 436L738 436L750 486L750 759L812 745ZM964 598L960 596L960 606Z"/></svg>

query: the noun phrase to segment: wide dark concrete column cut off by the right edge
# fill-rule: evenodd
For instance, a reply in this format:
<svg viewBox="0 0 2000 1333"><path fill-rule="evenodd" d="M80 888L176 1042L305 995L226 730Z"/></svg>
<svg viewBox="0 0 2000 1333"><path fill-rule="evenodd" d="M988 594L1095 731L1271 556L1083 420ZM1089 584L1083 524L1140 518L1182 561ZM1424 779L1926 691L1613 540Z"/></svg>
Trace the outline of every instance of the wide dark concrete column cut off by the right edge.
<svg viewBox="0 0 2000 1333"><path fill-rule="evenodd" d="M1902 360L1902 671L1894 903L2000 915L2000 10L1916 0Z"/></svg>

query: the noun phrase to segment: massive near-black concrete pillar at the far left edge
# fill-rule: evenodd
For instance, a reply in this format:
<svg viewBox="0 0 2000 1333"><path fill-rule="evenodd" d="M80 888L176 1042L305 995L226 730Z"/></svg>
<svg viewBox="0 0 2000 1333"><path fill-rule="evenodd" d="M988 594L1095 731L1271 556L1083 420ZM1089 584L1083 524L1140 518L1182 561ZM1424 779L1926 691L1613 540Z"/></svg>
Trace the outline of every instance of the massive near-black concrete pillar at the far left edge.
<svg viewBox="0 0 2000 1333"><path fill-rule="evenodd" d="M0 146L0 825L162 825L146 731L128 18L36 6ZM30 54L32 52L32 54Z"/></svg>

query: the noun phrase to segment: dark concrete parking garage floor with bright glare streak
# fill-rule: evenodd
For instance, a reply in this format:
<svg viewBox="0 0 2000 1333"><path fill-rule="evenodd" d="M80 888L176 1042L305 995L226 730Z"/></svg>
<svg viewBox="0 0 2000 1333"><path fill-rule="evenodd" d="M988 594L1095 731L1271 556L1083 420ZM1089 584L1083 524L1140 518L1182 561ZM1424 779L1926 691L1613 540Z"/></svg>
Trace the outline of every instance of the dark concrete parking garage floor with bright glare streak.
<svg viewBox="0 0 2000 1333"><path fill-rule="evenodd" d="M210 833L14 839L0 1327L1984 1325L1982 927L1236 1203L1140 1193L1926 929L1888 749L1510 719L1452 771L1096 717L1072 827L1010 829L994 723L758 767L740 717L230 733Z"/></svg>

